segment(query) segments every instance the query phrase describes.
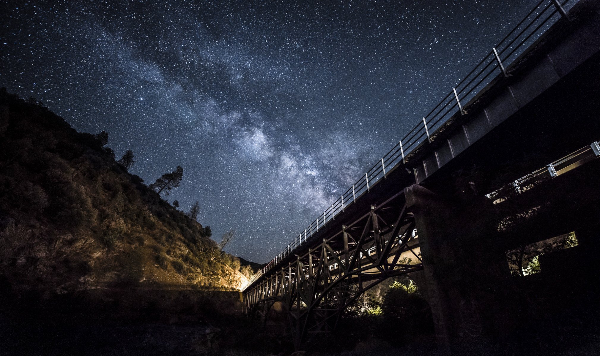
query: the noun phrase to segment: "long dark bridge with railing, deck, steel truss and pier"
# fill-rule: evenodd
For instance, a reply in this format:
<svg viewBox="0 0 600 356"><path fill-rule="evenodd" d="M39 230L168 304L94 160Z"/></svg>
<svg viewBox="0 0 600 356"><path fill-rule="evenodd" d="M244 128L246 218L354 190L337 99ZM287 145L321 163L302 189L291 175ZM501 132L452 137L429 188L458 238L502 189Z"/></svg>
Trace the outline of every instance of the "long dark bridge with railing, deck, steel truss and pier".
<svg viewBox="0 0 600 356"><path fill-rule="evenodd" d="M248 313L283 303L298 348L369 288L409 274L439 345L499 337L516 318L500 288L508 249L575 231L578 258L598 267L598 68L600 3L540 1L252 277Z"/></svg>

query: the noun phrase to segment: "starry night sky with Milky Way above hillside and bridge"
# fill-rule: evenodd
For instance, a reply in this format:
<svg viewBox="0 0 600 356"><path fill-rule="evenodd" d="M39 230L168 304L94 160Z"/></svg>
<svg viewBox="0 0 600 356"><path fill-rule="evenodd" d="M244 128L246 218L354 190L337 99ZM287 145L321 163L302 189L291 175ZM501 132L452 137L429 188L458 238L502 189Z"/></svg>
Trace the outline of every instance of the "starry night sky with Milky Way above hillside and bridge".
<svg viewBox="0 0 600 356"><path fill-rule="evenodd" d="M412 128L536 0L14 1L0 86L109 132L227 252L264 263Z"/></svg>

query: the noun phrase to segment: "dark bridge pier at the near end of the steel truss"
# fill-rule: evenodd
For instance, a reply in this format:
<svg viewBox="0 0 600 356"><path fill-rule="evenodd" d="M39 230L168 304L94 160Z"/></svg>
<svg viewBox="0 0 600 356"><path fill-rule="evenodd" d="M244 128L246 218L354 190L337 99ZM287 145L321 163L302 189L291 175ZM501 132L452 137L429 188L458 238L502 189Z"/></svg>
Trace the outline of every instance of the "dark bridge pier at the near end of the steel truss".
<svg viewBox="0 0 600 356"><path fill-rule="evenodd" d="M420 185L406 188L424 266L415 279L446 352L502 342L518 315L505 254L493 243L494 208L469 189L442 195Z"/></svg>

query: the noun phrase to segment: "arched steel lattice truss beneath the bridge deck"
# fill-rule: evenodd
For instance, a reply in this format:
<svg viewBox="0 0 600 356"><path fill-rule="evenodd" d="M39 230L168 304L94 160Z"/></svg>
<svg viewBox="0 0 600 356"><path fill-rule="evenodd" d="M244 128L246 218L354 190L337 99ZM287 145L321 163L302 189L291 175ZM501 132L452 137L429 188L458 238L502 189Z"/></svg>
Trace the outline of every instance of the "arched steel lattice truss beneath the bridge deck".
<svg viewBox="0 0 600 356"><path fill-rule="evenodd" d="M367 207L358 219L313 242L305 254L272 268L244 291L248 310L283 301L295 344L335 327L344 308L388 277L422 269L415 221L404 191Z"/></svg>

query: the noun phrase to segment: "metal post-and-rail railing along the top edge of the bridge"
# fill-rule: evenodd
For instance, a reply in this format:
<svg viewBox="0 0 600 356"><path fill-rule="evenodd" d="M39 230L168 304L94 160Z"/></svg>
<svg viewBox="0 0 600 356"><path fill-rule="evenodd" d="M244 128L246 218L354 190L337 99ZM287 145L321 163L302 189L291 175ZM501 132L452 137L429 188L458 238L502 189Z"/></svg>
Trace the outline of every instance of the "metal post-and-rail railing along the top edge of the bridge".
<svg viewBox="0 0 600 356"><path fill-rule="evenodd" d="M398 143L388 151L380 161L365 171L361 179L347 189L321 215L301 231L275 258L251 277L248 285L271 270L280 261L316 234L340 212L353 204L362 194L370 191L374 183L379 182L387 173L413 152L425 140L431 140L433 134L459 110L466 113L469 104L476 99L491 81L499 75L509 76L506 70L535 41L556 23L560 17L568 17L564 7L569 0L541 0L538 4L485 56L452 90L443 97ZM572 4L577 0L570 0Z"/></svg>

